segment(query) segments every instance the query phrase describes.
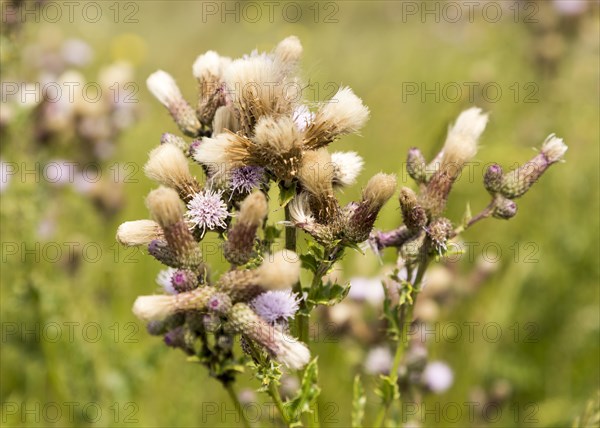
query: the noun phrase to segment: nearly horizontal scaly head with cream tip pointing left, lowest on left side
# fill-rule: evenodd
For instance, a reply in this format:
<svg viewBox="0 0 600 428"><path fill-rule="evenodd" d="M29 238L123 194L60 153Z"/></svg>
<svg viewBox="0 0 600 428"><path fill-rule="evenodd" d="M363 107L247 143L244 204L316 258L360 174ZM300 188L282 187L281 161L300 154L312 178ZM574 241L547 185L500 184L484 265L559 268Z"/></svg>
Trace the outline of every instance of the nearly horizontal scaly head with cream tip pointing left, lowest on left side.
<svg viewBox="0 0 600 428"><path fill-rule="evenodd" d="M170 296L140 296L133 304L133 313L143 321L152 321L164 320L179 312L206 310L206 304L215 292L213 287L202 287Z"/></svg>

